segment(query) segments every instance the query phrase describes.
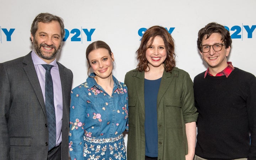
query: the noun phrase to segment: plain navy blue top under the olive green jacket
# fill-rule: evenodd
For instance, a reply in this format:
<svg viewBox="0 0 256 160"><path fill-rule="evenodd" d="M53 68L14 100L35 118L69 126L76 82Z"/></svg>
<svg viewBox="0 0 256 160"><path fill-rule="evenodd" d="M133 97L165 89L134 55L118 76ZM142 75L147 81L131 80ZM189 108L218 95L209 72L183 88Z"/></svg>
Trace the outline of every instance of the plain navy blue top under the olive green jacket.
<svg viewBox="0 0 256 160"><path fill-rule="evenodd" d="M145 100L145 155L158 156L157 96L162 78L144 79Z"/></svg>

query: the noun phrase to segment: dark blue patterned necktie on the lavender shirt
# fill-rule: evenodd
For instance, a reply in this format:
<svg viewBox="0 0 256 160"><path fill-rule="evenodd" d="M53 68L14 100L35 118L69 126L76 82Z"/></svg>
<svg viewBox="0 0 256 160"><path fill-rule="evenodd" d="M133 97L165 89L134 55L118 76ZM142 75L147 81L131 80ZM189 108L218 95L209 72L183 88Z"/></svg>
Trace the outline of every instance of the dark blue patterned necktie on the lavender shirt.
<svg viewBox="0 0 256 160"><path fill-rule="evenodd" d="M45 105L46 105L46 115L49 131L49 147L48 150L52 149L56 145L56 117L55 108L53 100L53 81L50 70L52 65L42 65L46 70L46 84L45 84Z"/></svg>

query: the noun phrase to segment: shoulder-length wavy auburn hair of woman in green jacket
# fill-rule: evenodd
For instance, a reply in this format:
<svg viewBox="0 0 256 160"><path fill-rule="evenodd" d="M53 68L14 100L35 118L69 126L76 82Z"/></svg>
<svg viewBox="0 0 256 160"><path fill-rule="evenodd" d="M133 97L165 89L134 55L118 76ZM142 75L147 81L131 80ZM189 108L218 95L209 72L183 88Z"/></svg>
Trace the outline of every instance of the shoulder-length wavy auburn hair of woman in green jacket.
<svg viewBox="0 0 256 160"><path fill-rule="evenodd" d="M175 53L174 53L174 39L171 34L161 26L152 26L145 31L143 34L139 49L136 51L137 54L137 70L148 72L148 60L146 59L146 50L152 45L156 36L161 37L164 40L164 45L166 49L166 59L164 61L164 67L166 72L170 72L173 67L176 66ZM149 40L151 41L148 44ZM148 70L147 70L148 68Z"/></svg>

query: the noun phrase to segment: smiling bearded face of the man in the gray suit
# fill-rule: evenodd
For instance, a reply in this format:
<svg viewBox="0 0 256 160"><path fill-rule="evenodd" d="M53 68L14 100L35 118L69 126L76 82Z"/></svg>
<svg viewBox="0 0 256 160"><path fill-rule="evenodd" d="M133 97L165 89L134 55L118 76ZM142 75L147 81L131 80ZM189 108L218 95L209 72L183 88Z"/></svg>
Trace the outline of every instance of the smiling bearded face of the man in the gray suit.
<svg viewBox="0 0 256 160"><path fill-rule="evenodd" d="M31 34L36 54L48 64L52 62L61 48L61 28L57 21L50 23L38 22L35 37Z"/></svg>

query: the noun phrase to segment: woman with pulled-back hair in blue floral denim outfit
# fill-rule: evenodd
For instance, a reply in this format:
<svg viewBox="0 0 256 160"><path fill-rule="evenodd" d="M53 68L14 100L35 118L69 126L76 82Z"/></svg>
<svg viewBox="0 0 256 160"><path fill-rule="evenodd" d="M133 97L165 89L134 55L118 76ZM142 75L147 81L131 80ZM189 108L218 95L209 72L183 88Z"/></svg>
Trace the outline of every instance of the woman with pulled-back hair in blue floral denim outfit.
<svg viewBox="0 0 256 160"><path fill-rule="evenodd" d="M105 42L91 43L86 59L93 73L71 92L71 160L126 160L127 87L112 75L114 56Z"/></svg>

